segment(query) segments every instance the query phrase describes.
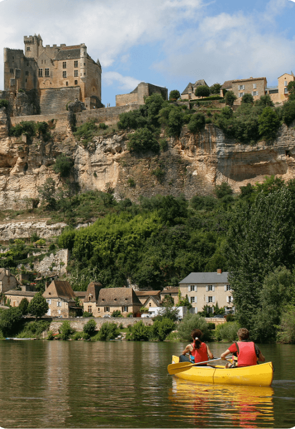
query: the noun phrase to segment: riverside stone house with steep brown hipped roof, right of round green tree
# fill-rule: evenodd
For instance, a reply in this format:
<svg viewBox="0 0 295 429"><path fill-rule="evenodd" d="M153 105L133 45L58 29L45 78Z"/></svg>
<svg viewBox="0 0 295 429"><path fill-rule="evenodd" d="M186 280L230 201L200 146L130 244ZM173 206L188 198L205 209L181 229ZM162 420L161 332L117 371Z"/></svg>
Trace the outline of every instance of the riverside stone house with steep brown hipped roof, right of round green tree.
<svg viewBox="0 0 295 429"><path fill-rule="evenodd" d="M43 292L51 317L76 317L78 307L76 306L75 293L67 281L53 280Z"/></svg>

